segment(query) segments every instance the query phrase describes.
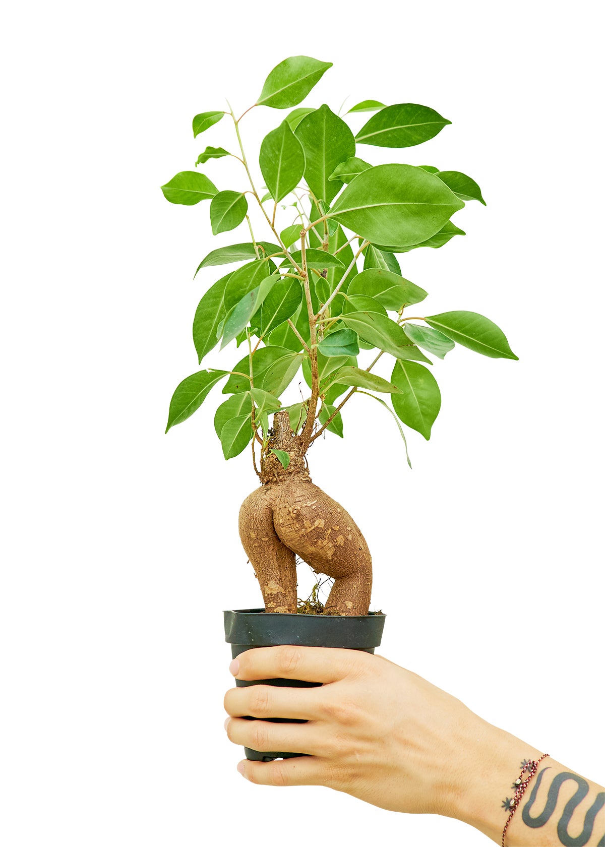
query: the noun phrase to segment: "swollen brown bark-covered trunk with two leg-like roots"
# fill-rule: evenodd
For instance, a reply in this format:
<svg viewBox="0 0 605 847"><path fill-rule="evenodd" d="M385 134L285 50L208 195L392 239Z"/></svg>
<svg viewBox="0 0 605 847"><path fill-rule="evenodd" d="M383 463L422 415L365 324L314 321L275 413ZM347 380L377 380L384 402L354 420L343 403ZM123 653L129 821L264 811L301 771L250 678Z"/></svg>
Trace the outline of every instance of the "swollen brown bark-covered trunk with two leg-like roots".
<svg viewBox="0 0 605 847"><path fill-rule="evenodd" d="M308 475L301 440L287 412L277 412L270 447L285 450L288 468L269 453L262 485L241 505L240 538L267 612L297 611L295 556L335 582L325 612L367 615L372 559L357 523Z"/></svg>

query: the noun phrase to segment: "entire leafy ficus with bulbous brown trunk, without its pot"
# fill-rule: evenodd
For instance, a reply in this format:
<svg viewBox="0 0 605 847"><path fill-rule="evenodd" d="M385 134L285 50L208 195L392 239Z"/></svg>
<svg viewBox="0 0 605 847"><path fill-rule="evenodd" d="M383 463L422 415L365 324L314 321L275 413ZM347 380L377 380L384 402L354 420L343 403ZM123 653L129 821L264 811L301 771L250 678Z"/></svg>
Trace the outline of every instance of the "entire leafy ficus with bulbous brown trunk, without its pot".
<svg viewBox="0 0 605 847"><path fill-rule="evenodd" d="M229 397L214 415L216 434L226 459L252 444L261 483L241 506L240 536L265 611L297 612L300 556L334 579L325 613L366 615L368 545L345 509L311 482L309 446L325 430L342 435L343 408L358 394L391 412L404 442L399 422L428 439L441 396L427 353L442 359L458 343L492 358L517 357L502 330L480 314L408 317L408 307L424 301L427 292L402 276L396 254L441 247L464 235L452 215L467 201L485 202L475 180L456 170L373 166L358 152L365 157L372 146L414 147L430 140L450 124L434 109L364 100L339 117L326 105L294 108L260 145L266 193L258 191L241 141L244 115L251 108L298 106L330 67L307 56L286 58L241 117L230 107L196 115L195 137L227 117L225 144L235 143L237 151L206 147L196 167L234 156L241 162L241 185L219 191L200 170L187 170L162 186L169 202L193 206L208 200L214 235L244 222L249 231L249 241L221 246L199 264L196 275L220 265L237 267L208 288L193 319L199 363L232 340L244 354L226 369L207 368L183 379L170 401L166 431L189 418L224 381ZM372 114L353 135L347 116L357 113ZM253 230L258 219L269 241ZM390 380L373 373L385 356L392 360ZM299 388L299 401L284 406L280 397L301 368L308 396Z"/></svg>

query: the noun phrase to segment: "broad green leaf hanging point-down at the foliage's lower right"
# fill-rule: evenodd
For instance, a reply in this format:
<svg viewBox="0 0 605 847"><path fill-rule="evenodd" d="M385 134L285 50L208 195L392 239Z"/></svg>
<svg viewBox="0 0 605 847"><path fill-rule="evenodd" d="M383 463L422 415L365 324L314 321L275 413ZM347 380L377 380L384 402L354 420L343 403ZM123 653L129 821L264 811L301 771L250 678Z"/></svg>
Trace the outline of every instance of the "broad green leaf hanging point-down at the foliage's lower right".
<svg viewBox="0 0 605 847"><path fill-rule="evenodd" d="M430 428L441 408L441 392L435 377L416 362L400 360L395 363L391 381L402 391L392 398L397 417L428 441Z"/></svg>

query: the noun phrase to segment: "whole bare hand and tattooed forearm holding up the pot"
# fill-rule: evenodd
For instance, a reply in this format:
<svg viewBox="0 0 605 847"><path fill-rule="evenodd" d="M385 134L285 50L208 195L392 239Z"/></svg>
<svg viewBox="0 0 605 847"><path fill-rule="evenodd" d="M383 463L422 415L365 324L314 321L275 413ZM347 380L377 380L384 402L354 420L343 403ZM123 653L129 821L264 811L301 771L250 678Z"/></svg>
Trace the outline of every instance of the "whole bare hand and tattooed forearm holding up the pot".
<svg viewBox="0 0 605 847"><path fill-rule="evenodd" d="M321 683L317 688L258 684L227 692L225 728L234 744L310 754L241 761L238 770L252 783L325 785L391 811L458 818L500 844L508 818L502 801L513 797L520 763L537 761L544 752L383 656L263 647L241 653L230 671L242 680ZM308 722L264 720L269 717ZM601 786L544 759L508 827L506 844L601 847L602 800Z"/></svg>

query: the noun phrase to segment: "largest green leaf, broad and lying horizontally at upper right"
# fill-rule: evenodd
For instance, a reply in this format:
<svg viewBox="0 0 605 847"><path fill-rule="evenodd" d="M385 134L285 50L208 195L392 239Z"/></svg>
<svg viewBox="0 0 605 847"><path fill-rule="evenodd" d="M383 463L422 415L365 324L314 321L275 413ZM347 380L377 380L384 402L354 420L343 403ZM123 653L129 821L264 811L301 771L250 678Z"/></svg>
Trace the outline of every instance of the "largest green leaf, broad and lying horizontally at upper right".
<svg viewBox="0 0 605 847"><path fill-rule="evenodd" d="M356 176L329 215L376 244L408 246L435 235L463 205L435 174L381 164Z"/></svg>

